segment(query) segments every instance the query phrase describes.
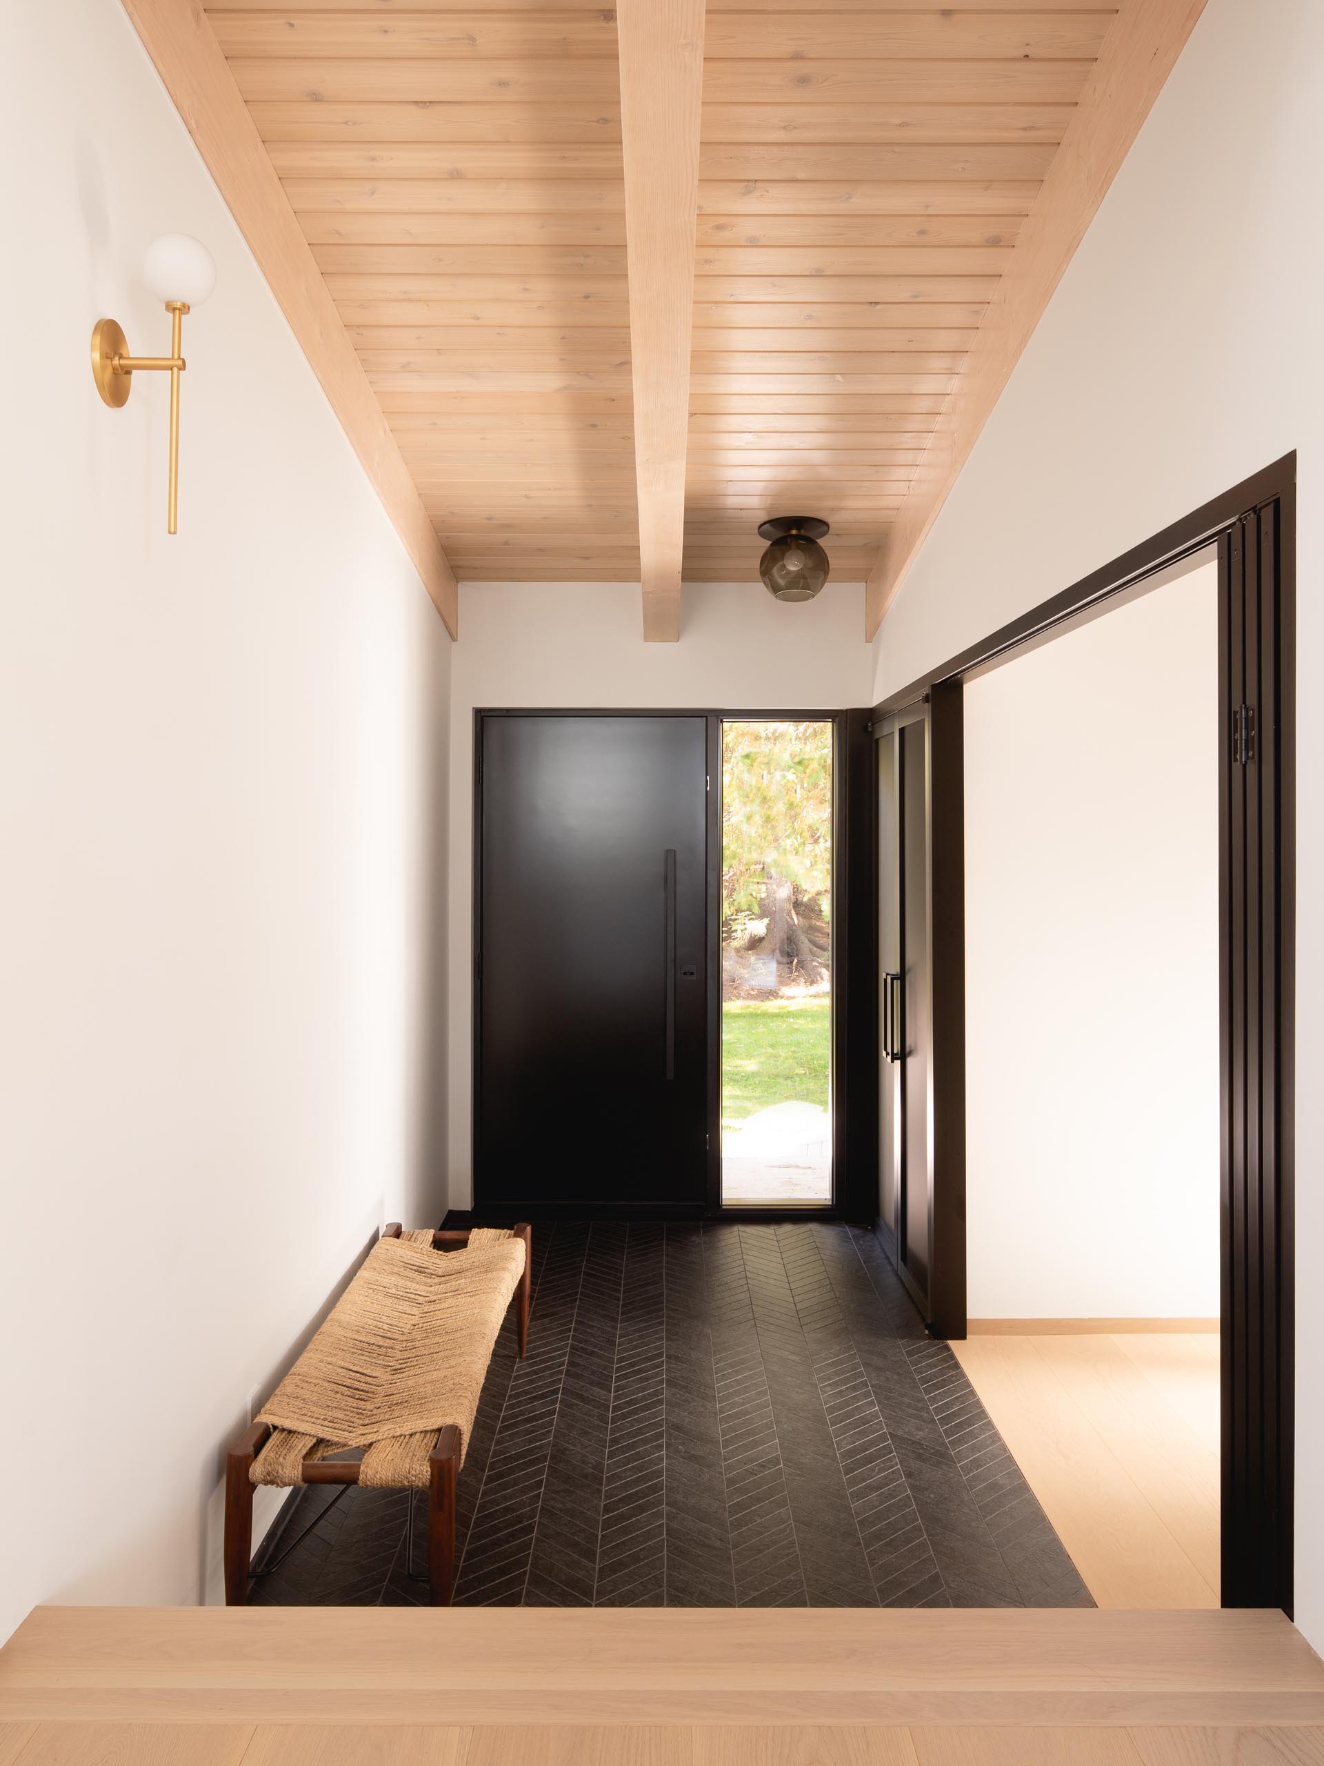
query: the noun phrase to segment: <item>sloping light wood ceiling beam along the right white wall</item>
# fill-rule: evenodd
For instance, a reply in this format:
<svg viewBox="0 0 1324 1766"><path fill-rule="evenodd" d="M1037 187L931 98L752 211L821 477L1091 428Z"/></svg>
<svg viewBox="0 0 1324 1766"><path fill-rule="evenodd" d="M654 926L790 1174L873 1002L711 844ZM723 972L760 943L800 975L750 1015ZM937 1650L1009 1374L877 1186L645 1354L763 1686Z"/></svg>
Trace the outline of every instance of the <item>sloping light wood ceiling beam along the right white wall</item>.
<svg viewBox="0 0 1324 1766"><path fill-rule="evenodd" d="M867 638L883 623L1202 11L1204 0L1121 0L1075 117L990 295L966 371L869 576Z"/></svg>

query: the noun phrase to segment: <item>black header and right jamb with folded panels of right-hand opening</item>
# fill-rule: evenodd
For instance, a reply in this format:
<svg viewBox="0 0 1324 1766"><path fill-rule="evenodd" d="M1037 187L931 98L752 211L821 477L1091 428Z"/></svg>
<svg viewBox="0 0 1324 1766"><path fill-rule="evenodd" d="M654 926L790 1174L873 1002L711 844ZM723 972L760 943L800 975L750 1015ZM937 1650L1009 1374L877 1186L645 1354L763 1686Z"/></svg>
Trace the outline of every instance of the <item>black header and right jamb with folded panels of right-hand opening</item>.
<svg viewBox="0 0 1324 1766"><path fill-rule="evenodd" d="M1283 1607L1290 1614L1296 454L890 694L874 706L874 722L937 692L960 694L966 680L1059 636L1068 623L1109 611L1117 597L1211 546L1218 549L1223 726L1222 1604ZM964 1264L964 1226L950 1254ZM964 1335L964 1309L953 1335Z"/></svg>

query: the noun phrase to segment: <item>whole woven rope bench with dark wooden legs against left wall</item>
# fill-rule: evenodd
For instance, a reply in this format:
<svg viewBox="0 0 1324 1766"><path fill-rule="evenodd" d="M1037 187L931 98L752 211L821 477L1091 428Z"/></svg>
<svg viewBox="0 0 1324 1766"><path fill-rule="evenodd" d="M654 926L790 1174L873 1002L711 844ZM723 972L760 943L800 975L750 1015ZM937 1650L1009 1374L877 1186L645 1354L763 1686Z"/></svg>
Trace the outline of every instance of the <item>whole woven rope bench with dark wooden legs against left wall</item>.
<svg viewBox="0 0 1324 1766"><path fill-rule="evenodd" d="M433 1602L448 1605L455 1476L512 1298L528 1347L531 1229L387 1227L226 1466L226 1604L247 1598L256 1485L429 1492ZM350 1450L362 1457L344 1459Z"/></svg>

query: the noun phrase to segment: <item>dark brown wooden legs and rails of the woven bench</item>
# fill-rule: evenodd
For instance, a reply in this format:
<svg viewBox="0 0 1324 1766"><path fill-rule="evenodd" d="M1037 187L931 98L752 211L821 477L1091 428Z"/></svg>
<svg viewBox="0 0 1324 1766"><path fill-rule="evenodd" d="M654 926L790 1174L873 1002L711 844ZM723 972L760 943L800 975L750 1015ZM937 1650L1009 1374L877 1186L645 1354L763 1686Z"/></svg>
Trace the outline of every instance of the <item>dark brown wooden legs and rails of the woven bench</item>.
<svg viewBox="0 0 1324 1766"><path fill-rule="evenodd" d="M381 1238L399 1238L399 1222L385 1227ZM528 1316L533 1293L533 1227L514 1229L524 1241L524 1273L515 1291L515 1323L519 1356L528 1351ZM433 1233L434 1250L461 1250L468 1245L468 1231ZM252 1559L252 1462L272 1436L272 1425L252 1423L229 1450L226 1459L226 1536L224 1572L226 1605L242 1607L249 1596ZM427 1459L427 1582L434 1607L448 1607L455 1579L455 1478L461 1462L461 1434L454 1423L438 1430L436 1445ZM358 1483L357 1459L305 1459L298 1483ZM295 1485L297 1487L297 1485Z"/></svg>

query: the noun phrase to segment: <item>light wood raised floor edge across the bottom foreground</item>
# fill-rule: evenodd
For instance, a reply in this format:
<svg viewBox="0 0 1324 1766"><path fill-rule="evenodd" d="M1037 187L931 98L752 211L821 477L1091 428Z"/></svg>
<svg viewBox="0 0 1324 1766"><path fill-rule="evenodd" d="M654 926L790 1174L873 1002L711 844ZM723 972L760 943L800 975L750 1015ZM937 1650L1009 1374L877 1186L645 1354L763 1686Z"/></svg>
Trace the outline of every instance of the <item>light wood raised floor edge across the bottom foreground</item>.
<svg viewBox="0 0 1324 1766"><path fill-rule="evenodd" d="M44 1607L0 1766L1324 1762L1282 1612Z"/></svg>

